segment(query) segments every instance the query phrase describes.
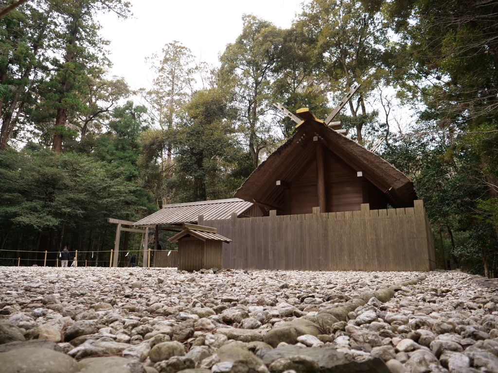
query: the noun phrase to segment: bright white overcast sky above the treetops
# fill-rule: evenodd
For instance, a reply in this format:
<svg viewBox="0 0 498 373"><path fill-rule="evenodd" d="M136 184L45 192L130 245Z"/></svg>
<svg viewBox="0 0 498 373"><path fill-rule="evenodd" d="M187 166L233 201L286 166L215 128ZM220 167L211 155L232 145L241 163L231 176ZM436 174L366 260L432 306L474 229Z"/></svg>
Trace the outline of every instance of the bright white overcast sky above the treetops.
<svg viewBox="0 0 498 373"><path fill-rule="evenodd" d="M242 31L242 15L254 14L288 28L302 0L131 0L133 17L99 17L102 36L111 41L113 75L132 89L147 87L151 75L144 59L177 40L198 60L218 64L218 54Z"/></svg>

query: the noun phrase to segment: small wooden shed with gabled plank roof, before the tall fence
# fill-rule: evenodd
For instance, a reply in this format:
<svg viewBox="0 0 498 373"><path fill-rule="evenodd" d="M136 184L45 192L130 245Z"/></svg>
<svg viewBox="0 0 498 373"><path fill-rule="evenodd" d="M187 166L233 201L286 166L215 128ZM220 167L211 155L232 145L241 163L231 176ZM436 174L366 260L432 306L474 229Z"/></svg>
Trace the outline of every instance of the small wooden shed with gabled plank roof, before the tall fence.
<svg viewBox="0 0 498 373"><path fill-rule="evenodd" d="M178 270L199 271L223 268L223 243L232 240L217 233L216 228L183 224L184 229L168 241L178 242Z"/></svg>

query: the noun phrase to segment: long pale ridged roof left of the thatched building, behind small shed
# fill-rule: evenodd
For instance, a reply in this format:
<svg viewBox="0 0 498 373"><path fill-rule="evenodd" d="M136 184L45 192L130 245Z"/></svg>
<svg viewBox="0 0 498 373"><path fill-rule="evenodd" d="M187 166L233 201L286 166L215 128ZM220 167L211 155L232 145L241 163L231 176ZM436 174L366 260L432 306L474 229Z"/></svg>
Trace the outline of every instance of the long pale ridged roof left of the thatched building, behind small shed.
<svg viewBox="0 0 498 373"><path fill-rule="evenodd" d="M233 212L240 215L252 205L240 198L168 204L135 225L196 223L199 215L203 215L204 220L229 219Z"/></svg>

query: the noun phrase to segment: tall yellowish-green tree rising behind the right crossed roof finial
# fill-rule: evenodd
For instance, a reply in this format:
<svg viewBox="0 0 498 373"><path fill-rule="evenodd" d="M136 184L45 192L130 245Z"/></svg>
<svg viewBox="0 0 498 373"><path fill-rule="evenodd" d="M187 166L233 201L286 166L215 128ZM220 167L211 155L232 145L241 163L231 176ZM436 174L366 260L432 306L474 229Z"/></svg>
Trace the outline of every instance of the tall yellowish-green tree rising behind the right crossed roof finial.
<svg viewBox="0 0 498 373"><path fill-rule="evenodd" d="M364 144L362 130L373 125L377 115L368 111L366 100L387 76L389 28L379 14L379 3L313 0L304 5L296 26L321 58L321 74L329 77L334 99L342 99L355 82L362 84L356 104L350 100L349 109L356 139Z"/></svg>

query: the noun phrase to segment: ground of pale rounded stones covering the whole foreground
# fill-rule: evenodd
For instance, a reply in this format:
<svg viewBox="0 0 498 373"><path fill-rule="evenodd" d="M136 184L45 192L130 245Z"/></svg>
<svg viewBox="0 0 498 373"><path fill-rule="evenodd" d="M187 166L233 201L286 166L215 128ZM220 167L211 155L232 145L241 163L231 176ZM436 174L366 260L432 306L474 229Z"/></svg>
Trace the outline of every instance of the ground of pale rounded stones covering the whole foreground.
<svg viewBox="0 0 498 373"><path fill-rule="evenodd" d="M3 267L0 286L0 356L85 372L498 372L498 283L458 271Z"/></svg>

